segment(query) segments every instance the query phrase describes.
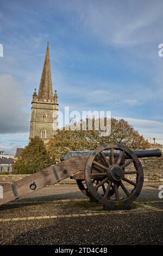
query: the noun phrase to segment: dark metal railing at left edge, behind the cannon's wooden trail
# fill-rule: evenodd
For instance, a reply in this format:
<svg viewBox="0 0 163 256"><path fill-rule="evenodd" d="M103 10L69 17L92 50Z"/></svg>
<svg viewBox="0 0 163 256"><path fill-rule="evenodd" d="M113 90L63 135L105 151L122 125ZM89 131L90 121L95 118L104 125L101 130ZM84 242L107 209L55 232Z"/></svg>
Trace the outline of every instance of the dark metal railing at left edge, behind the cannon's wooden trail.
<svg viewBox="0 0 163 256"><path fill-rule="evenodd" d="M45 167L42 166L26 166L14 167L12 164L0 164L0 175L4 174L33 174Z"/></svg>

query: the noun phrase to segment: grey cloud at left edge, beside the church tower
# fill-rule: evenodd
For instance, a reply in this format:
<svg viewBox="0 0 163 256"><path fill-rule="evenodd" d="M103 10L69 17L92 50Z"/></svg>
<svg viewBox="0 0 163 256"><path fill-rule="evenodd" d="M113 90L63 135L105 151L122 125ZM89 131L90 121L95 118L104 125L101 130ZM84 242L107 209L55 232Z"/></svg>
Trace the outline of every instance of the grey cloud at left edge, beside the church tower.
<svg viewBox="0 0 163 256"><path fill-rule="evenodd" d="M13 76L4 74L0 75L0 88L0 133L28 131L30 114L20 84Z"/></svg>

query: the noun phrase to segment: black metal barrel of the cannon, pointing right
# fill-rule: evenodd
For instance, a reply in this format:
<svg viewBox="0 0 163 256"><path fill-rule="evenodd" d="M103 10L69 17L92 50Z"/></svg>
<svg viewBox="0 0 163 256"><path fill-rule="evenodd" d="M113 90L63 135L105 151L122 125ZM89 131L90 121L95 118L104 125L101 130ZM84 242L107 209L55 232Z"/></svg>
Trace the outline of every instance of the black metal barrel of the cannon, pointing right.
<svg viewBox="0 0 163 256"><path fill-rule="evenodd" d="M72 156L89 156L93 150L90 151L68 151L65 156L60 157L60 161L64 161L66 159L69 159ZM110 156L110 150L103 151L105 156ZM120 150L114 150L114 156L118 157L120 155ZM138 157L160 157L162 155L162 152L160 149L150 149L150 150L133 150L133 153ZM124 154L124 159L130 159L130 157L127 154Z"/></svg>

